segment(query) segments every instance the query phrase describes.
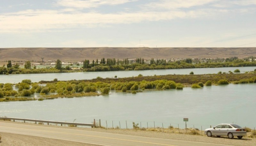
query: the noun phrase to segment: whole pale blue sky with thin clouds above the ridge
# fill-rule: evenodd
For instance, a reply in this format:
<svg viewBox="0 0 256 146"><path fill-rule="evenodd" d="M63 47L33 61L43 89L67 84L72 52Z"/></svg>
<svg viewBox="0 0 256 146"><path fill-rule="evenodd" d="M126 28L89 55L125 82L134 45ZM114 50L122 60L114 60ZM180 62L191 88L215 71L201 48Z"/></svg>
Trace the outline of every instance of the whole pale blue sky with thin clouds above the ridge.
<svg viewBox="0 0 256 146"><path fill-rule="evenodd" d="M13 47L256 47L256 0L0 0Z"/></svg>

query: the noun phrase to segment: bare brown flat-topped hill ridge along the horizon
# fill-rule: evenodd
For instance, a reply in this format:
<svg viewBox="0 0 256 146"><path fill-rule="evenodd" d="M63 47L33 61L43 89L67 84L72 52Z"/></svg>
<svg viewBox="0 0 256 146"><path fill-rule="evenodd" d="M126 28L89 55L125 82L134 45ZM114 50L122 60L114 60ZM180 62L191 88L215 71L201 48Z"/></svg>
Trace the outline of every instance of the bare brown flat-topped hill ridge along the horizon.
<svg viewBox="0 0 256 146"><path fill-rule="evenodd" d="M256 56L256 47L250 48L125 48L125 47L91 47L91 48L0 48L0 61L4 60L63 60L83 61L101 58L135 59L135 58L244 58Z"/></svg>

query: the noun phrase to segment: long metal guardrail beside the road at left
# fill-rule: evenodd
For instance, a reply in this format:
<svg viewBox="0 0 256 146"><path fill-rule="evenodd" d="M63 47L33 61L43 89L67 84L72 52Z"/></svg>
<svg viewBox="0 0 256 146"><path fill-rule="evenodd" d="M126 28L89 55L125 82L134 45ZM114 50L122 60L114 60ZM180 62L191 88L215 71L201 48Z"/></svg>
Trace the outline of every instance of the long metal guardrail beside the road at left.
<svg viewBox="0 0 256 146"><path fill-rule="evenodd" d="M49 125L49 123L53 123L53 124L60 124L61 126L64 125L75 125L75 126L91 126L91 127L95 127L94 124L92 123L73 123L73 122L58 122L58 121L47 121L47 120L37 120L37 119L21 119L21 118L7 118L7 117L0 117L0 119L2 120L17 120L17 121L24 121L24 123L26 121L30 121L30 122L38 122L38 123L47 123L47 125Z"/></svg>

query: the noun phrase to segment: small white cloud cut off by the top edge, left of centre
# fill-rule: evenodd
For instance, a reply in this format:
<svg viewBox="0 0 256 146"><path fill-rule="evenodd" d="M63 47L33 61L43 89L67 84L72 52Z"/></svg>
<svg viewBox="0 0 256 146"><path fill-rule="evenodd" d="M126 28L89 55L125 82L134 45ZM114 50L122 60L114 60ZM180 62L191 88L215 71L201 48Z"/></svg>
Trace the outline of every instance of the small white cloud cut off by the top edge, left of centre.
<svg viewBox="0 0 256 146"><path fill-rule="evenodd" d="M135 0L59 0L57 5L73 8L96 8L100 5L117 5Z"/></svg>

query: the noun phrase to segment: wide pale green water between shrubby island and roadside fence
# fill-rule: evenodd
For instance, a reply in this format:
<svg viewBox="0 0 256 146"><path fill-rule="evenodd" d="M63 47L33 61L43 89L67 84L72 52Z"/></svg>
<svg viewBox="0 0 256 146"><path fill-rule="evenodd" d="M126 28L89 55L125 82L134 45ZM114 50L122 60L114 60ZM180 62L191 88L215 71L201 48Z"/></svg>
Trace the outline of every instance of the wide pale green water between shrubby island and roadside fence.
<svg viewBox="0 0 256 146"><path fill-rule="evenodd" d="M189 70L191 71L191 69ZM0 116L91 123L101 119L106 127L132 127L132 121L142 127L170 125L184 127L183 118L189 118L188 127L201 129L219 123L236 123L256 127L256 84L212 86L201 89L143 91L116 93L109 96L59 98L44 101L1 102Z"/></svg>

